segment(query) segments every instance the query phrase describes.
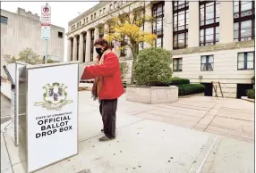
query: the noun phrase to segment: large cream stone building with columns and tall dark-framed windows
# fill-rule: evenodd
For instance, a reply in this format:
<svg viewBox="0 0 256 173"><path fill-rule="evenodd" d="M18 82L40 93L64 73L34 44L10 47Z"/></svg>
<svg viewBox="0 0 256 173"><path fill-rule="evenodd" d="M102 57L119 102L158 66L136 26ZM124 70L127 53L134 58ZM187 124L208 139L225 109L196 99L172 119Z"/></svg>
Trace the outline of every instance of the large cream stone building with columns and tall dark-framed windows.
<svg viewBox="0 0 256 173"><path fill-rule="evenodd" d="M100 2L69 22L68 61L93 63L93 41L104 37L107 17L116 5L125 8L134 2ZM189 78L206 86L205 95L215 95L212 82L219 82L225 97L240 98L253 87L255 67L254 1L152 1L146 3L147 15L157 21L144 30L158 36L155 46L173 55L173 76ZM82 44L81 44L82 43ZM148 45L142 44L141 49ZM118 50L118 49L117 49ZM118 51L117 51L118 52ZM120 61L129 57L118 52ZM132 60L125 61L132 64ZM131 70L126 80L131 77ZM218 95L220 95L218 90Z"/></svg>

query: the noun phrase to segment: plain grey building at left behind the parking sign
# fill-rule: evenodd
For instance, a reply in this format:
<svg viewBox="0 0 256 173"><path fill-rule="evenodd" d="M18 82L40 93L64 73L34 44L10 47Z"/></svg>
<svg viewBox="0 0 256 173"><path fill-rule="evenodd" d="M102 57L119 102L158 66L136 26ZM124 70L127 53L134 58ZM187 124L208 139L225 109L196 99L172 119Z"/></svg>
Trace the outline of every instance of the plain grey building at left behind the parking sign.
<svg viewBox="0 0 256 173"><path fill-rule="evenodd" d="M64 62L64 28L51 25L47 53L53 60ZM17 12L1 9L1 66L5 64L3 55L18 57L25 48L45 55L45 41L41 39L41 21L38 14L18 8ZM1 75L4 76L1 67Z"/></svg>

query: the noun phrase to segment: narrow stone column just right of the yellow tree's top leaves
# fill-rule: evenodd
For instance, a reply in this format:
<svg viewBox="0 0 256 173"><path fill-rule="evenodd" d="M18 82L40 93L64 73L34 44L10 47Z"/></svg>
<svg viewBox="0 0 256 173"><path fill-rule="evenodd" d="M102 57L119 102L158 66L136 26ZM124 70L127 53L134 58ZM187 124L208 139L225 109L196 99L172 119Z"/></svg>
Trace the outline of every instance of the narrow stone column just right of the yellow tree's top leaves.
<svg viewBox="0 0 256 173"><path fill-rule="evenodd" d="M165 2L163 48L173 50L173 2Z"/></svg>

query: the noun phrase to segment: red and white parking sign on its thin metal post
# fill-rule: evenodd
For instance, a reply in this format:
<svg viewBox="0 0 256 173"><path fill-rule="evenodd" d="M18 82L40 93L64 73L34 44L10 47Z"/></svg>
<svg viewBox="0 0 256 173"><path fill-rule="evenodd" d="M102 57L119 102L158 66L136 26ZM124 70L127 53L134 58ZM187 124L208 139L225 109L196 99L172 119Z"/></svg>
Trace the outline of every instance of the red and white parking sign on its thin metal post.
<svg viewBox="0 0 256 173"><path fill-rule="evenodd" d="M41 8L41 38L46 41L45 62L47 63L47 40L51 37L51 7L46 4Z"/></svg>

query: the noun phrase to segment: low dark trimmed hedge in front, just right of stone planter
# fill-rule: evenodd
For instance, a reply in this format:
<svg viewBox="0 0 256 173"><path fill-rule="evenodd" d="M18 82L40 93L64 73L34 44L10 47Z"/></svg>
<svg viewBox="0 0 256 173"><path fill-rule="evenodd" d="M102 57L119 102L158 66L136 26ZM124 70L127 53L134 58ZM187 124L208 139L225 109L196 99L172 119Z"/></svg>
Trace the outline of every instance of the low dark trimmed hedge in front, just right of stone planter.
<svg viewBox="0 0 256 173"><path fill-rule="evenodd" d="M204 91L204 85L201 84L183 84L178 87L179 95L193 95Z"/></svg>

